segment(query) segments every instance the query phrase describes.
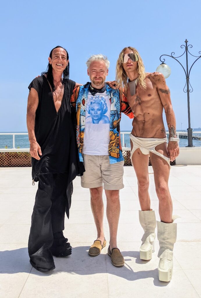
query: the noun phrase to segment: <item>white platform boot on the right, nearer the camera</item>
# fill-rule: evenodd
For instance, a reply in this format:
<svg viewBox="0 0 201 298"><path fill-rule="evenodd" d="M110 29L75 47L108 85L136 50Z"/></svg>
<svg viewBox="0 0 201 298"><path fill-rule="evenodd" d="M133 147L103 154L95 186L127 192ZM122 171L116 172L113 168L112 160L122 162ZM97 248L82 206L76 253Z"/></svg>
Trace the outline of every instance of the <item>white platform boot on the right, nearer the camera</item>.
<svg viewBox="0 0 201 298"><path fill-rule="evenodd" d="M173 221L180 216L174 215L171 224L157 221L157 237L159 241L158 257L160 258L158 265L158 278L161 281L169 282L172 278L173 269L173 247L177 239L177 224Z"/></svg>

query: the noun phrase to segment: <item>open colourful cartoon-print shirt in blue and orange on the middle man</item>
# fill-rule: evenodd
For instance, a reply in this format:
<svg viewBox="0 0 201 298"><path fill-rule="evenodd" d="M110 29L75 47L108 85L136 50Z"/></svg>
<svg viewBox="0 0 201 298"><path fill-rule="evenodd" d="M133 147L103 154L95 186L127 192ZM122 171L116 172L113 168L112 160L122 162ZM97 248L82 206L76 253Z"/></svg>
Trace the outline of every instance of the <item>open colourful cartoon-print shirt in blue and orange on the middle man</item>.
<svg viewBox="0 0 201 298"><path fill-rule="evenodd" d="M91 83L86 83L84 86L79 86L74 89L71 96L71 104L76 108L77 117L77 147L80 161L83 162L82 148L84 142L85 132L85 111L87 105L87 98L89 86ZM106 92L110 98L110 142L109 142L109 159L110 164L121 162L124 160L121 152L121 138L120 138L120 120L121 112L126 114L129 118L134 118L133 112L127 102L127 98L119 93L118 89L112 89L106 84ZM100 144L101 146L101 144Z"/></svg>

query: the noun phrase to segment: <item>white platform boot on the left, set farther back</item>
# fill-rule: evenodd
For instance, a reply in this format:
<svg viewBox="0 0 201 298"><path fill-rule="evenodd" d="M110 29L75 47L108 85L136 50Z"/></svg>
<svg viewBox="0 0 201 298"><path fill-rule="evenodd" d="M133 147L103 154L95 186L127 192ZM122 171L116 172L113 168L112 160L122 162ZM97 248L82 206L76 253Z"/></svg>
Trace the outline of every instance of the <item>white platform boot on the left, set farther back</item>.
<svg viewBox="0 0 201 298"><path fill-rule="evenodd" d="M156 217L153 210L141 211L139 210L140 224L144 230L142 236L142 244L140 246L140 259L151 260L152 252L155 252L155 228L156 228Z"/></svg>

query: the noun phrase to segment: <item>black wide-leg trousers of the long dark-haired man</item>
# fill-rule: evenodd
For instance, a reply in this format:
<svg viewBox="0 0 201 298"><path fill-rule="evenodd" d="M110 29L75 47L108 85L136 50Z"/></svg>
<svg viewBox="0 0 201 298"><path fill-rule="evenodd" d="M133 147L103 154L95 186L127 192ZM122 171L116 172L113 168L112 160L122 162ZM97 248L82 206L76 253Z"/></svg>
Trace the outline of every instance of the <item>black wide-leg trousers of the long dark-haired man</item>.
<svg viewBox="0 0 201 298"><path fill-rule="evenodd" d="M67 184L67 173L38 176L38 190L28 243L30 260L36 267L49 270L54 268L50 248L54 235L62 234L63 237ZM66 243L65 240L64 242Z"/></svg>

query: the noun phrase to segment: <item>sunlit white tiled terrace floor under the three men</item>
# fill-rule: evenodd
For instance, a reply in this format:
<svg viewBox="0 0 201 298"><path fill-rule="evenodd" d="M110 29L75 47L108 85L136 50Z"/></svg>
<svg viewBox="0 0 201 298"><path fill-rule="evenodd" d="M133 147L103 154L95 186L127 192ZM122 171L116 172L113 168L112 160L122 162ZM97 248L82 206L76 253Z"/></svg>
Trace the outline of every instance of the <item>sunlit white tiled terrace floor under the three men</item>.
<svg viewBox="0 0 201 298"><path fill-rule="evenodd" d="M153 170L150 173L152 209L158 214ZM88 249L96 238L96 228L87 189L74 181L70 219L64 234L73 247L72 255L55 258L56 269L40 273L29 263L27 241L37 190L32 186L31 168L0 168L0 297L2 298L130 298L201 297L201 166L174 166L169 188L177 219L174 246L174 273L170 283L158 280L159 248L152 260L139 258L142 228L138 220L138 187L132 167L124 167L125 187L120 191L121 215L118 246L125 266L116 268L107 255L107 247L97 257ZM104 206L106 198L103 195ZM109 228L104 215L105 237Z"/></svg>

